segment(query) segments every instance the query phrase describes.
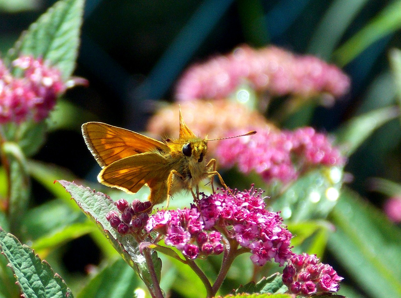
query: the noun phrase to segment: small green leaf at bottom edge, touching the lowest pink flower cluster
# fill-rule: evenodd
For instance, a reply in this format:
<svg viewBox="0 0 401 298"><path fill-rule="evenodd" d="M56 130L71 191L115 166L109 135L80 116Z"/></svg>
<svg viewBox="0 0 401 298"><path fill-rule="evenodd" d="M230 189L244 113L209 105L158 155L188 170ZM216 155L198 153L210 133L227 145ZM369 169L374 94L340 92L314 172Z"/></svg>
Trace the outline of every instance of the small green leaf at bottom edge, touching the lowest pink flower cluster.
<svg viewBox="0 0 401 298"><path fill-rule="evenodd" d="M255 284L255 282L249 282L245 286L240 286L237 290L235 290L235 294L241 293L279 293L282 294L286 292L288 288L283 284L283 279L281 274L276 273L269 277L264 277L259 282Z"/></svg>

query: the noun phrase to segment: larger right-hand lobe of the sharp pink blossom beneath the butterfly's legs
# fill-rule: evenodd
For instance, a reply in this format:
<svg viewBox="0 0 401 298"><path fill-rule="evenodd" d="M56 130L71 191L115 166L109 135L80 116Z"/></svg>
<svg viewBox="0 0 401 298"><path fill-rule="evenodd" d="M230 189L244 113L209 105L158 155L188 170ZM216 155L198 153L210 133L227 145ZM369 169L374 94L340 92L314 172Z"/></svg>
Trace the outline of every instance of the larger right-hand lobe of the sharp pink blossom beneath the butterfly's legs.
<svg viewBox="0 0 401 298"><path fill-rule="evenodd" d="M224 229L244 248L251 250L253 263L263 266L274 258L280 266L292 252L292 234L283 226L277 212L265 209L263 191L235 191L213 193L205 196L198 205L205 229Z"/></svg>

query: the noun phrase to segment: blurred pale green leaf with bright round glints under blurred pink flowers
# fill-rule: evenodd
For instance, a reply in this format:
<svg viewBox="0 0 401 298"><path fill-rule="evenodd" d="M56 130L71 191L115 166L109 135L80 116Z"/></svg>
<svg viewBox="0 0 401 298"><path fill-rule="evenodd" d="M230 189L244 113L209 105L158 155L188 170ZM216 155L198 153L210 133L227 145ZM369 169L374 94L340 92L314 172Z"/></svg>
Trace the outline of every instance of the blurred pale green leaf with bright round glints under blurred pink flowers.
<svg viewBox="0 0 401 298"><path fill-rule="evenodd" d="M336 205L342 185L342 169L320 167L304 174L279 197L273 197L271 208L293 223L324 219Z"/></svg>

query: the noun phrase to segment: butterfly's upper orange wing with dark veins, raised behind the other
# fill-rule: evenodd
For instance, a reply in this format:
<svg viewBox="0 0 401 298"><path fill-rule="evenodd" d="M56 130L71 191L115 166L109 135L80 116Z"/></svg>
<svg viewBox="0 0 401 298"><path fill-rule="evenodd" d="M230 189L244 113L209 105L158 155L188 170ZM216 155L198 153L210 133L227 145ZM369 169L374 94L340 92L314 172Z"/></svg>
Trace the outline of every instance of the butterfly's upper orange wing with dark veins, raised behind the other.
<svg viewBox="0 0 401 298"><path fill-rule="evenodd" d="M170 151L164 143L146 135L101 122L84 123L82 135L102 168L120 159L152 150Z"/></svg>

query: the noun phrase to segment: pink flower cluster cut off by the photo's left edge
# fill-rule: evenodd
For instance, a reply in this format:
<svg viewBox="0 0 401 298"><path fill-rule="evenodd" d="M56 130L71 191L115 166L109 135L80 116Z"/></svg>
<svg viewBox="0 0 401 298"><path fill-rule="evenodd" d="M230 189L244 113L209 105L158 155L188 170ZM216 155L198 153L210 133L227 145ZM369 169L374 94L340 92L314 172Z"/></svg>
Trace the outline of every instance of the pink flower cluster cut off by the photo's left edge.
<svg viewBox="0 0 401 298"><path fill-rule="evenodd" d="M31 118L41 121L67 88L60 71L32 56L21 56L12 64L22 70L23 77L13 77L0 60L0 124Z"/></svg>

